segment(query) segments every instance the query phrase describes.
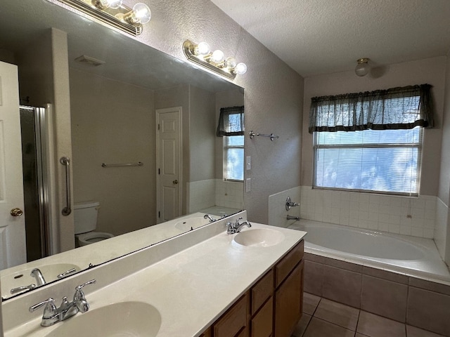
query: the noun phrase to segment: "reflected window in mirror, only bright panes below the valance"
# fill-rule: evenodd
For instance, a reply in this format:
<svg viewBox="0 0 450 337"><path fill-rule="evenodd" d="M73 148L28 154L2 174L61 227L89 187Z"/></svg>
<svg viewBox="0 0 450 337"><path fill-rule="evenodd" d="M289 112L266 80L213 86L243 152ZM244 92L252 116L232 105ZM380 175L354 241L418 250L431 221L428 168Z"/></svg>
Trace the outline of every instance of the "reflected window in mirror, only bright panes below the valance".
<svg viewBox="0 0 450 337"><path fill-rule="evenodd" d="M224 137L224 180L244 180L244 136Z"/></svg>

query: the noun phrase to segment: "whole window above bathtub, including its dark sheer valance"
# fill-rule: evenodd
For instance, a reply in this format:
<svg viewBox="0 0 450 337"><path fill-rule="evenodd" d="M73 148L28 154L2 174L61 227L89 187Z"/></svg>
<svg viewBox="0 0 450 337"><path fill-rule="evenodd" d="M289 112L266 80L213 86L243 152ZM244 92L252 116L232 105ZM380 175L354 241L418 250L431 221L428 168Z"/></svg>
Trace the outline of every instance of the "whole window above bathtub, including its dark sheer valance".
<svg viewBox="0 0 450 337"><path fill-rule="evenodd" d="M430 85L311 99L313 186L418 195Z"/></svg>

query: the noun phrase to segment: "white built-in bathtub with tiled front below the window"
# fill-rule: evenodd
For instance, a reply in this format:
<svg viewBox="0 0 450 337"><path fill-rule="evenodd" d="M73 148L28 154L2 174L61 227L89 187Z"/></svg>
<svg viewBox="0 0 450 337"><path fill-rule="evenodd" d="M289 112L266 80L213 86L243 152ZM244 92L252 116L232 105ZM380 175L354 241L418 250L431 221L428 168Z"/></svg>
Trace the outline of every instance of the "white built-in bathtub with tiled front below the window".
<svg viewBox="0 0 450 337"><path fill-rule="evenodd" d="M308 232L307 253L450 284L449 268L432 239L304 219L288 228Z"/></svg>

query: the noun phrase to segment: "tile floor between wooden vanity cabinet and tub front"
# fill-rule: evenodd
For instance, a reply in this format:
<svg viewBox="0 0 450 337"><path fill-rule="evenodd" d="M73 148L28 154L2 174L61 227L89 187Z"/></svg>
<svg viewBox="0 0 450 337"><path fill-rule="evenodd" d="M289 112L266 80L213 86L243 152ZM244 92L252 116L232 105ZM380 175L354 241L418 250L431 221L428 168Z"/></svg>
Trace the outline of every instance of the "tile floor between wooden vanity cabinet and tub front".
<svg viewBox="0 0 450 337"><path fill-rule="evenodd" d="M444 337L370 312L304 293L292 337Z"/></svg>

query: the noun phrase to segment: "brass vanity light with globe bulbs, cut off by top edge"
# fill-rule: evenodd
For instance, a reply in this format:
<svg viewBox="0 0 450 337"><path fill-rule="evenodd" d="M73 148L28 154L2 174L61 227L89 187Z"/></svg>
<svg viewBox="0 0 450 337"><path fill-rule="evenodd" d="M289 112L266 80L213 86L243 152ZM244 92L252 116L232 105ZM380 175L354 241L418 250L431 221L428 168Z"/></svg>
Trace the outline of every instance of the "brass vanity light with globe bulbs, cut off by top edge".
<svg viewBox="0 0 450 337"><path fill-rule="evenodd" d="M151 18L150 8L142 3L129 8L122 4L122 0L59 1L134 36L142 33L142 25Z"/></svg>

